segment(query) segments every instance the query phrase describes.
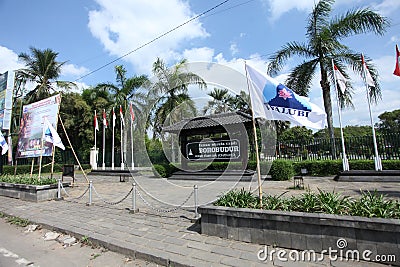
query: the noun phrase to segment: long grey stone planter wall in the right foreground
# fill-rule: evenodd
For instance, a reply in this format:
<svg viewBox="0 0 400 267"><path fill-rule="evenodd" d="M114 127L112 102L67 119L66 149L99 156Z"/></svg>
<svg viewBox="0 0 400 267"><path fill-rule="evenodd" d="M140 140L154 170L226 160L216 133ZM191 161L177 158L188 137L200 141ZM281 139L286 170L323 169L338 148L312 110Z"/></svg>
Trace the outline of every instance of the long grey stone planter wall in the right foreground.
<svg viewBox="0 0 400 267"><path fill-rule="evenodd" d="M338 239L347 246L340 250L395 255L400 266L400 220L203 206L201 233L256 244L322 252L338 250Z"/></svg>

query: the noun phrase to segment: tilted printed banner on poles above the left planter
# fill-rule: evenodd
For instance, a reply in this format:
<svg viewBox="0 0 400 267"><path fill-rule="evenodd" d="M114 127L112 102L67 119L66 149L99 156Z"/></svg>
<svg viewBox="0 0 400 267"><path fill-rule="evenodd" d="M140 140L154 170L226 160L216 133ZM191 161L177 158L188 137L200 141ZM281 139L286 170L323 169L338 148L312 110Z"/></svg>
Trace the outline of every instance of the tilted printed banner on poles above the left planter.
<svg viewBox="0 0 400 267"><path fill-rule="evenodd" d="M22 108L21 127L18 137L17 158L51 156L53 144L43 141L45 118L56 129L61 96L55 95Z"/></svg>

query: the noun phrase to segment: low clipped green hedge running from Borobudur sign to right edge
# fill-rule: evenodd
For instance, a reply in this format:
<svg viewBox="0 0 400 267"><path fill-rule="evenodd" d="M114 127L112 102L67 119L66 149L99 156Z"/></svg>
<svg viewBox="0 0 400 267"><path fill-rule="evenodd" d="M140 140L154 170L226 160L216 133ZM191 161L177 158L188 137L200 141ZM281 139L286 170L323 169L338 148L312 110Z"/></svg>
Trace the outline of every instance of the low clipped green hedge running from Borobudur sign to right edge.
<svg viewBox="0 0 400 267"><path fill-rule="evenodd" d="M256 170L256 162L249 161L247 169ZM375 165L373 160L350 160L350 170L374 170ZM229 169L239 170L242 168L240 162L213 162L211 164L195 163L192 164L196 169L207 170L226 170ZM400 160L383 160L382 166L384 170L400 170ZM261 174L271 175L273 180L288 180L293 175L300 175L301 169L307 169L307 175L310 176L331 176L336 175L342 171L341 160L305 160L292 162L289 160L274 160L271 162L261 162ZM178 168L172 164L155 164L153 165L153 172L158 177L170 177Z"/></svg>

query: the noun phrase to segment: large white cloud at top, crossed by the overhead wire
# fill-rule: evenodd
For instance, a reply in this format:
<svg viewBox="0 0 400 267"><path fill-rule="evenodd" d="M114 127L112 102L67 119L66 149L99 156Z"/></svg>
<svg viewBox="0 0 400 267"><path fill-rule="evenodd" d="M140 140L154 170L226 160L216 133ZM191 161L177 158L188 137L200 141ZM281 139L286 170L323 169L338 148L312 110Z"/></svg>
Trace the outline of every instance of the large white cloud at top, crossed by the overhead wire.
<svg viewBox="0 0 400 267"><path fill-rule="evenodd" d="M89 29L105 49L114 56L123 56L161 34L188 21L195 14L187 2L180 0L96 0L97 10L89 12ZM157 57L165 61L176 58L183 42L207 37L198 21L192 21L170 34L128 55L139 73L147 73Z"/></svg>

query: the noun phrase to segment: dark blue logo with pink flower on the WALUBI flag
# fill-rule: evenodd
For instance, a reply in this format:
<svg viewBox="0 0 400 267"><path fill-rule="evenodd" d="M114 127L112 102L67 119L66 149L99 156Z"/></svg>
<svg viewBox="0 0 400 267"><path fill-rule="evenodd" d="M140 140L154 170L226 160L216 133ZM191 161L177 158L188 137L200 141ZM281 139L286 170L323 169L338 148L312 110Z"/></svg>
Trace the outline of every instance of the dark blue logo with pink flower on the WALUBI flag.
<svg viewBox="0 0 400 267"><path fill-rule="evenodd" d="M268 87L270 86L266 85L263 90L264 100L265 103L268 103L268 105L304 111L312 111L309 103L298 97L296 93L294 93L285 85L280 83L276 87L276 90L271 90L271 88ZM276 93L271 93L274 91L276 91Z"/></svg>

